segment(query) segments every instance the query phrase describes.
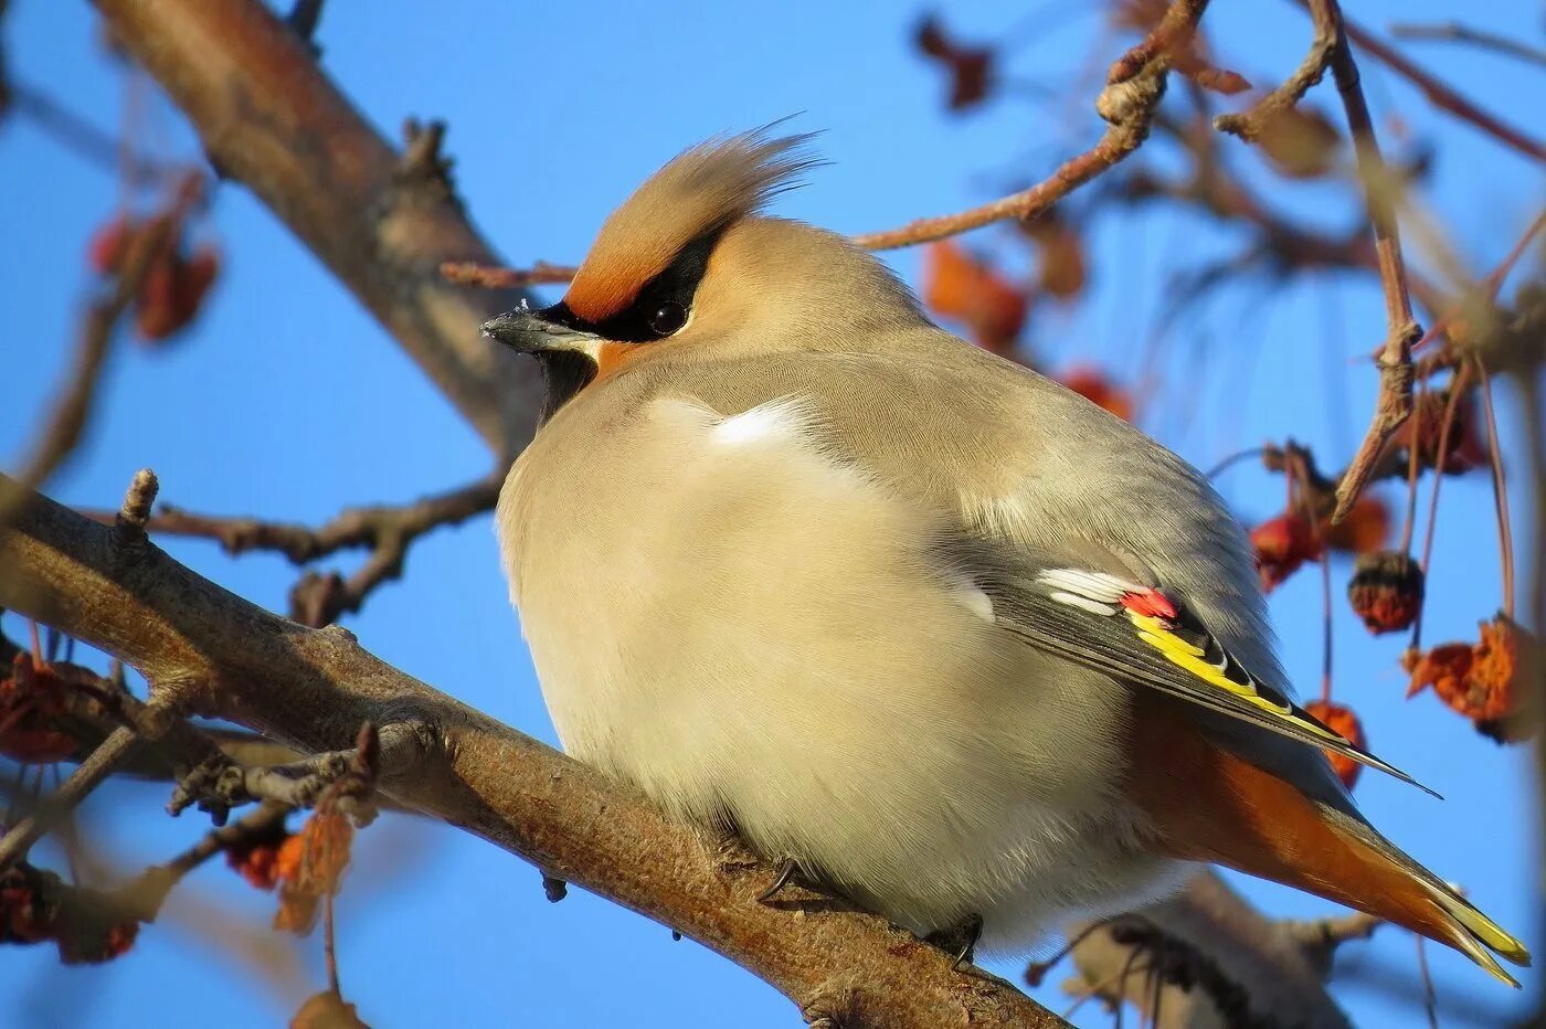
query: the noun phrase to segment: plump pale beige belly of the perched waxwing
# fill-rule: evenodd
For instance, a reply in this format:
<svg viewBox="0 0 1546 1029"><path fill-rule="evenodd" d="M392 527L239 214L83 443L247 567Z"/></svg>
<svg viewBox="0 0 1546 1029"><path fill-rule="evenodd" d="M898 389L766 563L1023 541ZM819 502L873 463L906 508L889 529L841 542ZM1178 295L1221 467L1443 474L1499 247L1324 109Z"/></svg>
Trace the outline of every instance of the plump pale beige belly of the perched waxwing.
<svg viewBox="0 0 1546 1029"><path fill-rule="evenodd" d="M1002 633L929 513L776 448L671 451L631 451L628 518L606 471L524 504L530 545L575 533L513 555L566 749L917 930L980 913L1008 942L1155 881L1122 688Z"/></svg>

